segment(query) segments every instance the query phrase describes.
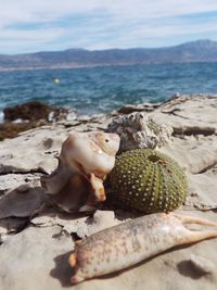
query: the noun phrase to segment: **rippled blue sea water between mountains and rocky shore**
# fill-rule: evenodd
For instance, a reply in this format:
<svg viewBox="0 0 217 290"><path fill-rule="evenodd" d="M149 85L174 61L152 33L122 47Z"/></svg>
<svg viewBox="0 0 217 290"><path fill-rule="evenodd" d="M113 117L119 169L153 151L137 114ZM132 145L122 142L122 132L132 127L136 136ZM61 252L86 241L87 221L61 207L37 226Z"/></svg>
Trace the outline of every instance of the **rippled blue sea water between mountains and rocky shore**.
<svg viewBox="0 0 217 290"><path fill-rule="evenodd" d="M0 72L0 111L39 100L93 114L164 101L176 92L217 93L217 63Z"/></svg>

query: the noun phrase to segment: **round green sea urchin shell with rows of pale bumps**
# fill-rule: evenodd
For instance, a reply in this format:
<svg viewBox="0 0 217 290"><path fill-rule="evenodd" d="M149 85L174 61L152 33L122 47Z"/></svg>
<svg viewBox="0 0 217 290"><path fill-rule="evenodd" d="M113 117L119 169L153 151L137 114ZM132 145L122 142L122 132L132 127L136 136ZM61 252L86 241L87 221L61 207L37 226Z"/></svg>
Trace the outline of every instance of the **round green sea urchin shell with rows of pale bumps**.
<svg viewBox="0 0 217 290"><path fill-rule="evenodd" d="M145 213L171 212L187 197L181 167L152 149L136 149L117 156L110 181L117 203Z"/></svg>

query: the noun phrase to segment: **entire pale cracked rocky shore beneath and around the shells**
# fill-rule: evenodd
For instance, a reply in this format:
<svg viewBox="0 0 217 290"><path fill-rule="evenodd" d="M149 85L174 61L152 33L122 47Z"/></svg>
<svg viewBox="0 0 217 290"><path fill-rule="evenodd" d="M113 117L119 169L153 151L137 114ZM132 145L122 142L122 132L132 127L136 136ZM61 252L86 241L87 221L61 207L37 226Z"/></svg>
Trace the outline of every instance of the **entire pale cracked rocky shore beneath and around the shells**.
<svg viewBox="0 0 217 290"><path fill-rule="evenodd" d="M55 156L68 133L104 130L114 117L135 111L174 129L173 140L159 151L174 157L188 177L187 202L176 212L217 222L216 97L179 96L162 104L125 105L107 115L46 123L0 142L1 290L216 289L216 239L179 247L122 273L71 286L68 255L75 240L137 213L100 209L91 215L65 214L44 194L40 177L56 167Z"/></svg>

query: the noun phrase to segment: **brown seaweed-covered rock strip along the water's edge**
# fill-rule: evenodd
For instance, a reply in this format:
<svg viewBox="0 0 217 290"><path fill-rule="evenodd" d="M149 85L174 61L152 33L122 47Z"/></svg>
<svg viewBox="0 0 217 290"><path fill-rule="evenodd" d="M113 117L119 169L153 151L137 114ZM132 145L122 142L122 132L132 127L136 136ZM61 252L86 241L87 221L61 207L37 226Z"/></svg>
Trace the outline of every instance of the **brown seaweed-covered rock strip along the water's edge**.
<svg viewBox="0 0 217 290"><path fill-rule="evenodd" d="M5 112L12 110L13 112L13 118L8 119L0 119L0 141L2 141L5 138L14 138L20 133L26 131L31 128L37 128L44 125L52 126L58 121L66 122L69 124L72 121L76 122L88 122L89 119L94 119L100 116L108 116L108 115L117 115L117 114L130 114L131 112L146 112L151 113L154 112L157 108L161 108L173 100L176 100L178 98L205 98L205 99L217 99L217 94L182 94L179 93L174 94L168 100L164 102L157 102L157 103L143 103L143 104L123 104L119 109L110 111L108 113L98 113L98 114L79 114L77 111L73 109L65 109L65 108L59 108L59 106L50 106L47 103L38 102L38 101L29 101L20 105L15 105L13 108L5 108ZM34 106L30 109L28 108L29 104L36 103L37 106L40 106L40 110L43 110L44 113L42 113L41 117L34 117L34 114L36 114L31 111L35 110ZM23 109L22 109L23 108ZM27 109L26 109L27 108ZM27 110L27 117L23 118L22 115L26 114ZM37 109L36 109L37 110ZM47 112L49 110L49 113ZM23 113L22 113L23 112ZM47 113L46 113L47 112ZM16 117L14 117L16 116ZM28 119L28 117L34 117L33 119ZM4 113L0 111L0 117L4 118Z"/></svg>

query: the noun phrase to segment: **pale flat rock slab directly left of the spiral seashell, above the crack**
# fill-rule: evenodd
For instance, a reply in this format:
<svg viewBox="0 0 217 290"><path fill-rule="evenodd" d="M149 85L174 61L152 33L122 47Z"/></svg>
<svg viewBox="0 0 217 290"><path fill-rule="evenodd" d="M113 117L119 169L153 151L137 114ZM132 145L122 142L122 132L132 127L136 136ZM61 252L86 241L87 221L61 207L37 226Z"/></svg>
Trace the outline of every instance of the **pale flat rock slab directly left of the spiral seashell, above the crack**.
<svg viewBox="0 0 217 290"><path fill-rule="evenodd" d="M46 173L56 166L51 155L59 153L66 133L59 128L37 128L0 142L0 173Z"/></svg>

